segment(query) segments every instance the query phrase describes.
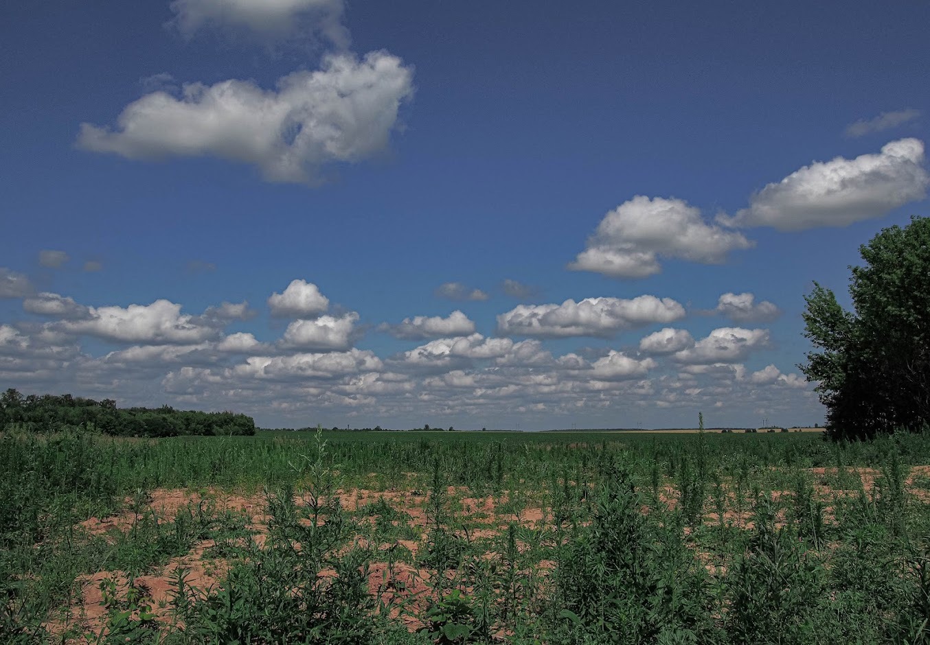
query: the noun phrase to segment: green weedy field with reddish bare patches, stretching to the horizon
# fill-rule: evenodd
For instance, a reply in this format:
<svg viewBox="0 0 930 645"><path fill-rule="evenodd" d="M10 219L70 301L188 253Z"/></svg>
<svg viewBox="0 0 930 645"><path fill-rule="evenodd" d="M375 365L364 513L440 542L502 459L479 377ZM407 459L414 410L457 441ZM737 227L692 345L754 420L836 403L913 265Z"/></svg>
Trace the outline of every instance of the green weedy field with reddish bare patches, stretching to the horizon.
<svg viewBox="0 0 930 645"><path fill-rule="evenodd" d="M922 643L930 438L0 435L3 643Z"/></svg>

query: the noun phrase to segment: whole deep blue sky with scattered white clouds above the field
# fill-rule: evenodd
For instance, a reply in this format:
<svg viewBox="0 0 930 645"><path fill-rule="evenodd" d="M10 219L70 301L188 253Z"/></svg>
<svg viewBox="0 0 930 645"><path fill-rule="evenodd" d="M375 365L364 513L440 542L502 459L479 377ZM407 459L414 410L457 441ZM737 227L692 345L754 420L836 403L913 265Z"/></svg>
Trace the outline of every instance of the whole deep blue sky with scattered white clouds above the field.
<svg viewBox="0 0 930 645"><path fill-rule="evenodd" d="M265 428L823 422L930 214L930 5L0 10L0 388Z"/></svg>

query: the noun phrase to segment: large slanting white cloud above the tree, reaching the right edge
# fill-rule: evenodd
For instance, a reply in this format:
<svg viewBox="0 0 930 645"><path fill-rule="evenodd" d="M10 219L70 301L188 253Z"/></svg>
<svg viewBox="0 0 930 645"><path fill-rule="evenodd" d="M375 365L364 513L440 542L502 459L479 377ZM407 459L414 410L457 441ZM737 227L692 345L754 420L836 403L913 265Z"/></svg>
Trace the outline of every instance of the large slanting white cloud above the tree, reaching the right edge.
<svg viewBox="0 0 930 645"><path fill-rule="evenodd" d="M902 138L878 154L805 165L752 195L749 208L717 220L725 226L777 230L847 226L922 200L928 185L923 141Z"/></svg>

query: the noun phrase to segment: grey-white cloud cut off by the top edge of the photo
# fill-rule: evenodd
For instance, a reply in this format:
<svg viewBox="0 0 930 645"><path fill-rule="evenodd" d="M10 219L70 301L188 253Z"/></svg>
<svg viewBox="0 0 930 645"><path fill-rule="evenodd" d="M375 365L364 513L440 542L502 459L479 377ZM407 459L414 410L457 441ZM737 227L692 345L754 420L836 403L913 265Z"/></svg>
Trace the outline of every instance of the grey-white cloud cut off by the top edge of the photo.
<svg viewBox="0 0 930 645"><path fill-rule="evenodd" d="M169 24L187 38L206 25L282 37L310 22L333 45L349 45L342 0L173 0L170 7L175 18Z"/></svg>

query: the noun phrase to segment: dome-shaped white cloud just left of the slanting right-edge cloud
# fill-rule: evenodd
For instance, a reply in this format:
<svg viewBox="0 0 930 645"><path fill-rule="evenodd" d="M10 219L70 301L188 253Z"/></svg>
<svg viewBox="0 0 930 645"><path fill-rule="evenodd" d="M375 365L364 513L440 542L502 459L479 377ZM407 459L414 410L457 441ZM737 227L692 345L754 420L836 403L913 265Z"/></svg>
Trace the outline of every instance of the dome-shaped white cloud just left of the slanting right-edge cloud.
<svg viewBox="0 0 930 645"><path fill-rule="evenodd" d="M741 233L705 222L684 200L636 195L607 213L568 268L644 278L661 270L659 257L720 264L731 251L751 246Z"/></svg>

